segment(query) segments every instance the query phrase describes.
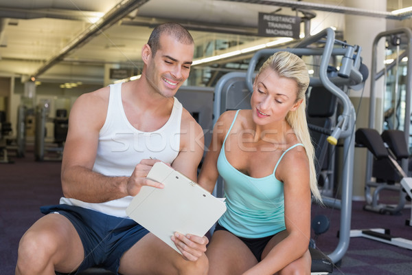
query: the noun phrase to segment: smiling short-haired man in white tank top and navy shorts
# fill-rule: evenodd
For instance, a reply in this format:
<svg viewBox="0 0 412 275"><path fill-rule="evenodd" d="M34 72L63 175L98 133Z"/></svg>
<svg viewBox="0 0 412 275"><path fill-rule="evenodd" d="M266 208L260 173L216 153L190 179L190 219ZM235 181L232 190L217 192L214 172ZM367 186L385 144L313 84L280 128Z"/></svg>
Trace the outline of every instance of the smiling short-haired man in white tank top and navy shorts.
<svg viewBox="0 0 412 275"><path fill-rule="evenodd" d="M207 274L205 236L172 236L182 255L126 217L155 162L196 180L203 155L201 126L174 95L194 54L189 32L159 25L142 49L139 80L110 85L76 100L62 159L60 205L27 230L16 274L54 274L93 265L120 274Z"/></svg>

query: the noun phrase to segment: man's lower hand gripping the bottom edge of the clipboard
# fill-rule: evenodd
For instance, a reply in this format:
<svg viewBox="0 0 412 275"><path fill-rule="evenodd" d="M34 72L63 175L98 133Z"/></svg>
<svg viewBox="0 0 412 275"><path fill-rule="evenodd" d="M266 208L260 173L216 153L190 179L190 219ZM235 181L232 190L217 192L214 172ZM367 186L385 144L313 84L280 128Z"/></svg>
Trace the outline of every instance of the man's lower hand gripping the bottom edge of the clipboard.
<svg viewBox="0 0 412 275"><path fill-rule="evenodd" d="M187 261L197 261L206 252L206 245L209 243L206 236L183 235L179 232L175 232L171 239Z"/></svg>

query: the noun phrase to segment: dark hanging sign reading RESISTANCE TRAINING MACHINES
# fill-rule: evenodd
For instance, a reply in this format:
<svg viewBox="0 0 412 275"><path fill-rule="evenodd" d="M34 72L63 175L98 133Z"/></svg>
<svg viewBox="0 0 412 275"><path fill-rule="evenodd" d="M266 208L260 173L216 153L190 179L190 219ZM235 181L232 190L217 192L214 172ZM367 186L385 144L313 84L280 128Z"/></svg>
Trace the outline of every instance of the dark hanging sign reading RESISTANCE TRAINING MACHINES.
<svg viewBox="0 0 412 275"><path fill-rule="evenodd" d="M259 12L258 35L299 39L300 18Z"/></svg>

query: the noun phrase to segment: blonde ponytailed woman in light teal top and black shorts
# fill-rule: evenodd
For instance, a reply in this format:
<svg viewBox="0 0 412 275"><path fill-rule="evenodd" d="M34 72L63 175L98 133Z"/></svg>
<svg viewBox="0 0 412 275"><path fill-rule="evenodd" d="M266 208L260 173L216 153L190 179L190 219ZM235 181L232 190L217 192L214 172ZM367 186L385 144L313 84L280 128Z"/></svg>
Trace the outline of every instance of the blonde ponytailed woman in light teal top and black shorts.
<svg viewBox="0 0 412 275"><path fill-rule="evenodd" d="M207 248L209 275L310 274L311 191L320 200L306 124L304 61L277 52L253 83L251 110L214 126L198 183L225 179L227 212Z"/></svg>

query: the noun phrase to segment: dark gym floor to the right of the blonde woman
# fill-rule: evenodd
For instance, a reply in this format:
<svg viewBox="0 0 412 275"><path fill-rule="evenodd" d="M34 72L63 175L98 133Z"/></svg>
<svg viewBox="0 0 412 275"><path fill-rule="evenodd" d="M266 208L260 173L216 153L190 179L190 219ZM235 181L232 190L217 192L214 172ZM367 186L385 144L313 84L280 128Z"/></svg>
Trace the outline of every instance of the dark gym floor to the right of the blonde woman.
<svg viewBox="0 0 412 275"><path fill-rule="evenodd" d="M385 203L396 203L398 199L398 192L384 191L382 195L386 196ZM404 208L398 215L389 215L367 212L363 210L364 205L363 201L352 203L352 230L384 228L389 229L392 236L412 241L412 228L405 225L406 219L411 218L410 207ZM340 210L312 206L312 217L318 214L330 219L330 229L317 237L317 247L325 254L330 254L339 241ZM412 250L361 237L351 238L345 256L340 263L336 263L332 274L412 274Z"/></svg>

